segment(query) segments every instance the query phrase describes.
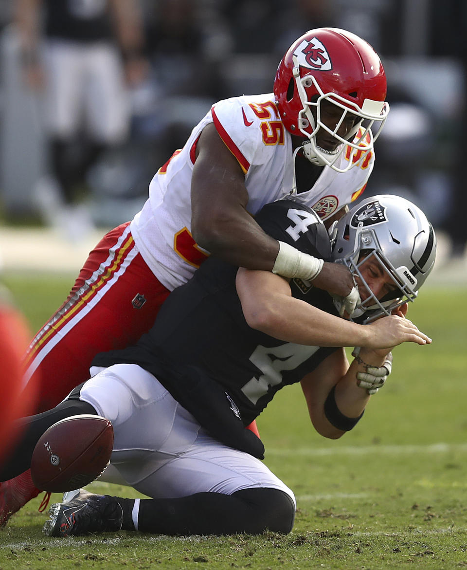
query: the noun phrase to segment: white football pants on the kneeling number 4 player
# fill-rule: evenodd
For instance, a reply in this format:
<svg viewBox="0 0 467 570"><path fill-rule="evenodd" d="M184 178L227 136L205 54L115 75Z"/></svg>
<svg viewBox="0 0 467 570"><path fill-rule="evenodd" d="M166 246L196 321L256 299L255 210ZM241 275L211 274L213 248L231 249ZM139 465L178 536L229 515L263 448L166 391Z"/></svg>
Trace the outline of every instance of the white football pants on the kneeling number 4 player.
<svg viewBox="0 0 467 570"><path fill-rule="evenodd" d="M100 372L98 372L100 370ZM210 437L152 374L136 364L91 369L80 400L112 421L111 463L154 499L253 487L293 492L261 462Z"/></svg>

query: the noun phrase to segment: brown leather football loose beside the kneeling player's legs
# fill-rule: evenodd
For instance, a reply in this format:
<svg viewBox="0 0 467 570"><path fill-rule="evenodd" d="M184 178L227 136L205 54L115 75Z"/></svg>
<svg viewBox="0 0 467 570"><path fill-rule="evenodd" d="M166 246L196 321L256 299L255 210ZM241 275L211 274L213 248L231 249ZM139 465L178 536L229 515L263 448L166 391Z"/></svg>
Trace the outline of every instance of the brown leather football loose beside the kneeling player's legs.
<svg viewBox="0 0 467 570"><path fill-rule="evenodd" d="M84 487L104 471L113 447L110 420L81 414L60 420L44 431L31 459L31 477L43 491Z"/></svg>

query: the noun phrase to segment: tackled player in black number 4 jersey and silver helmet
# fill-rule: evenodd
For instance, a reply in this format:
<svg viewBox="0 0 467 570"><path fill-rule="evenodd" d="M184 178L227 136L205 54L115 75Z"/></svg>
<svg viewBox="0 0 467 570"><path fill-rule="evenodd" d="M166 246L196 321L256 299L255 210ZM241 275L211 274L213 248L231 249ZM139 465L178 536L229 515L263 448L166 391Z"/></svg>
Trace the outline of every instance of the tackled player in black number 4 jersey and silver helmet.
<svg viewBox="0 0 467 570"><path fill-rule="evenodd" d="M368 198L331 228L331 240L314 211L292 200L265 206L257 221L286 245L345 263L357 309L345 314L303 280L207 260L134 347L97 355L91 380L24 421L1 477L29 467L35 442L56 421L91 413L112 421L113 473L152 497L69 492L52 505L47 535L289 532L293 492L259 461L263 444L244 426L282 386L301 382L315 429L341 437L384 384L391 348L431 343L405 318L436 254L432 226L411 202Z"/></svg>

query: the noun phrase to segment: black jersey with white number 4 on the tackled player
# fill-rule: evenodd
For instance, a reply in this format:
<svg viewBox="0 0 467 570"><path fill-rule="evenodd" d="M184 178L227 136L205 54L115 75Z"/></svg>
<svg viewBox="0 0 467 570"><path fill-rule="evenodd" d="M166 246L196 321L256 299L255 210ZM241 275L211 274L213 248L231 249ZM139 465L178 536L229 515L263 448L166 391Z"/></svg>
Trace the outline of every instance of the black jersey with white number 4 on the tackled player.
<svg viewBox="0 0 467 570"><path fill-rule="evenodd" d="M272 237L329 258L329 236L309 207L282 200L264 206L256 220ZM170 294L135 347L101 353L93 365L139 364L210 431L215 421L225 425L219 420L225 412L242 425L250 424L278 390L300 381L335 348L286 343L249 327L236 293L236 271L207 259L188 283ZM300 279L293 279L290 287L294 297L337 314L327 292ZM216 437L226 441L219 434L222 428L217 429ZM244 449L236 441L228 443Z"/></svg>

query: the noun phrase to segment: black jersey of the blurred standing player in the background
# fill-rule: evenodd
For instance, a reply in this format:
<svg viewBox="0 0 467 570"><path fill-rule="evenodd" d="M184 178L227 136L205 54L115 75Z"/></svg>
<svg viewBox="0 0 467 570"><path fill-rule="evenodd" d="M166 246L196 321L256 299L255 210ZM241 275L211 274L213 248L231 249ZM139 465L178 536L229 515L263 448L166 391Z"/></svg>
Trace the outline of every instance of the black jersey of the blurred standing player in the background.
<svg viewBox="0 0 467 570"><path fill-rule="evenodd" d="M73 42L102 42L112 38L107 0L46 0L48 38Z"/></svg>

